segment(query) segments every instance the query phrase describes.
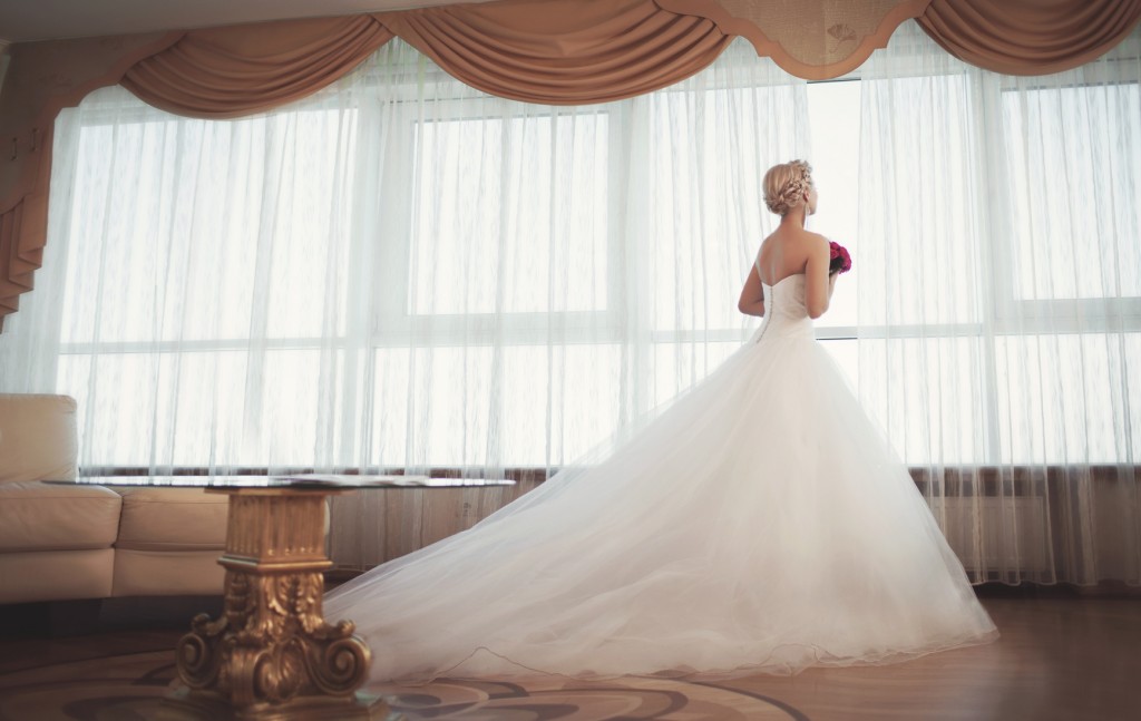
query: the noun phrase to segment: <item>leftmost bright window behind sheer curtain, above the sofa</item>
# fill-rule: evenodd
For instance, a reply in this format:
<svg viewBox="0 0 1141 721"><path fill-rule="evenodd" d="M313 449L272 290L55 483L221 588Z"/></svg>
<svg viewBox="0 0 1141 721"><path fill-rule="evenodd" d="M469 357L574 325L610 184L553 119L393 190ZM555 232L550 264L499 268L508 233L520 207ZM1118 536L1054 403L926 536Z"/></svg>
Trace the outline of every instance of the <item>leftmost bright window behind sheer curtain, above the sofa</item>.
<svg viewBox="0 0 1141 721"><path fill-rule="evenodd" d="M315 105L205 122L108 89L66 121L80 127L57 160L74 162L52 218L70 235L58 387L89 413L88 465L314 462L308 411L341 382L341 341L322 329L348 318L341 161L356 137L354 111Z"/></svg>

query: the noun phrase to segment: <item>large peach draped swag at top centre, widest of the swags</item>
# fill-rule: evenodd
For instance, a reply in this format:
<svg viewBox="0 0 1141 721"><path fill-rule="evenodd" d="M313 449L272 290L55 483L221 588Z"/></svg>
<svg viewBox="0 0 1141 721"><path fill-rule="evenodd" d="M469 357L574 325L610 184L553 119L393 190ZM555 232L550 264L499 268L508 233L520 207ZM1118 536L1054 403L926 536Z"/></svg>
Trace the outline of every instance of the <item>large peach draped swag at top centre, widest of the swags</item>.
<svg viewBox="0 0 1141 721"><path fill-rule="evenodd" d="M375 16L451 75L527 103L586 105L665 88L733 37L646 0L487 2Z"/></svg>

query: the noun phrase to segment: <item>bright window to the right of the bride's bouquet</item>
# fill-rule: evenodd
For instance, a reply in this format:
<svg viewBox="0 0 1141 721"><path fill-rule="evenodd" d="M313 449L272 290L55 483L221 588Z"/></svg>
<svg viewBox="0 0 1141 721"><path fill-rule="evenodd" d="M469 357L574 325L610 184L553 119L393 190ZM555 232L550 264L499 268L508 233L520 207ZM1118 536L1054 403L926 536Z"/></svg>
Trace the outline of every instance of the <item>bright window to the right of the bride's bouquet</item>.
<svg viewBox="0 0 1141 721"><path fill-rule="evenodd" d="M897 451L1136 457L1136 83L955 71L861 86L866 202L887 212L860 224L860 391Z"/></svg>

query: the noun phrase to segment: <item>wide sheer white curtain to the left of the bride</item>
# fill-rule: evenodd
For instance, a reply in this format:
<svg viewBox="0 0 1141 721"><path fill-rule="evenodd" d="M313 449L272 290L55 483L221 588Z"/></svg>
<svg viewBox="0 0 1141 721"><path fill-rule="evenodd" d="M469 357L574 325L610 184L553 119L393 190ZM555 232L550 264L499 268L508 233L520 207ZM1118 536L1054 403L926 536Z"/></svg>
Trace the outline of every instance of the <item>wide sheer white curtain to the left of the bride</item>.
<svg viewBox="0 0 1141 721"><path fill-rule="evenodd" d="M56 127L48 257L0 386L78 398L87 473L525 481L334 504L335 560L400 554L737 348L761 177L808 154L804 98L744 42L590 107L489 97L399 41L236 121L97 91Z"/></svg>

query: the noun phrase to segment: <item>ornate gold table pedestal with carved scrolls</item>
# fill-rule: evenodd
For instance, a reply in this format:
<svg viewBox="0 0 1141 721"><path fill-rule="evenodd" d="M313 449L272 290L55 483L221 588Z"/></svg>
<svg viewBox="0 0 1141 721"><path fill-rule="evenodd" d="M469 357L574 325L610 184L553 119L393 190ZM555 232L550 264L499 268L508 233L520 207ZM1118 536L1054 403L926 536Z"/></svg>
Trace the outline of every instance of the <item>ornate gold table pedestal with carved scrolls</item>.
<svg viewBox="0 0 1141 721"><path fill-rule="evenodd" d="M217 488L229 495L222 615L200 614L178 642L189 718L388 719L356 692L371 653L354 625L322 616L325 496L334 488Z"/></svg>

